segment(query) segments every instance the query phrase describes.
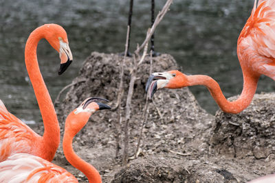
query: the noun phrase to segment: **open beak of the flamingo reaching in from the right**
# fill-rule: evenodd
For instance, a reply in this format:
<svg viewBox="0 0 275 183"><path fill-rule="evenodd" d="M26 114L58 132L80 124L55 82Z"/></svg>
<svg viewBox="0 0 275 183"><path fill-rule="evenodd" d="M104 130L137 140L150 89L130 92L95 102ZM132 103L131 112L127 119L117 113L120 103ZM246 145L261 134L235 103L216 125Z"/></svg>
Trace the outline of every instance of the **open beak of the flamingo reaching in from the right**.
<svg viewBox="0 0 275 183"><path fill-rule="evenodd" d="M145 91L148 92L149 99L152 99L158 89L164 88L168 84L169 78L170 73L153 73L148 77Z"/></svg>

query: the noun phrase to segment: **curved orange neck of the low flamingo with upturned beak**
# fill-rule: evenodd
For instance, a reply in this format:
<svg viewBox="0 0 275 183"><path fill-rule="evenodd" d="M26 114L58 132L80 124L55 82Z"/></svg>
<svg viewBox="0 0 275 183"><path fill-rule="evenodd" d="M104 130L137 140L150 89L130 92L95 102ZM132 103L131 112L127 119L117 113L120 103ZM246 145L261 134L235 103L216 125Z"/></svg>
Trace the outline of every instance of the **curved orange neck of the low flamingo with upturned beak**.
<svg viewBox="0 0 275 183"><path fill-rule="evenodd" d="M89 119L89 118L88 118ZM88 121L87 119L87 121ZM70 120L69 117L67 120ZM67 121L66 121L67 123ZM96 170L94 166L85 162L85 160L81 159L75 152L72 147L73 138L76 135L74 127L70 127L69 125L65 127L65 133L63 137L63 151L66 159L72 164L76 169L82 171L89 182L92 183L101 183L100 174Z"/></svg>

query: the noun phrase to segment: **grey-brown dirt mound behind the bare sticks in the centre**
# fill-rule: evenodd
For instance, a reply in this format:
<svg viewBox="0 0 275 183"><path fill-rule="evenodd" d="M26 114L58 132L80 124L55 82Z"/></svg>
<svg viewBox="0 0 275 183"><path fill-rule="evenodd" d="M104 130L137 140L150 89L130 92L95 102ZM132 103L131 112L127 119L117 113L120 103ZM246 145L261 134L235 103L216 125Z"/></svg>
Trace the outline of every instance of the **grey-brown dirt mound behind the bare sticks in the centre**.
<svg viewBox="0 0 275 183"><path fill-rule="evenodd" d="M87 97L103 97L111 101L110 106L115 106L120 81L120 64L123 57L115 54L91 53L85 60L76 83L58 104L58 118L64 123L65 117ZM124 72L124 95L122 97L122 110L124 110L128 92L130 71L133 58L126 58ZM132 101L131 122L129 124L129 156L133 156L140 134L142 112L146 99L144 91L150 68L149 58L145 59L137 73L139 79L135 82ZM177 69L177 64L172 56L162 54L153 58L154 71L168 71ZM141 143L140 156L159 154L163 151L180 151L181 153L208 151L210 128L214 118L198 105L195 97L188 88L179 90L159 90L154 96L154 103L148 106L148 121L144 127L144 138ZM122 113L124 115L124 113ZM118 111L100 111L91 117L93 123L78 134L74 143L77 154L84 154L84 159L94 164L103 175L111 176L114 167L119 167L122 156L122 136L116 126L120 123ZM61 125L63 128L63 124ZM63 131L63 130L62 130ZM120 151L115 158L117 143ZM62 158L61 149L56 159ZM63 162L60 160L59 162Z"/></svg>

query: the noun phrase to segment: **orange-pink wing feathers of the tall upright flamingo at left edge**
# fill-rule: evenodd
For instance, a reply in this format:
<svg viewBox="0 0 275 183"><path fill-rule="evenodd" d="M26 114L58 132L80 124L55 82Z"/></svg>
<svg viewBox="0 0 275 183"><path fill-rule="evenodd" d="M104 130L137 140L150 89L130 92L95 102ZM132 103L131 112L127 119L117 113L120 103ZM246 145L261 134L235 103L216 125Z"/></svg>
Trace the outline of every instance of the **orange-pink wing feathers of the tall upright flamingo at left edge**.
<svg viewBox="0 0 275 183"><path fill-rule="evenodd" d="M8 112L0 100L0 162L13 153L32 153L36 138L40 136Z"/></svg>

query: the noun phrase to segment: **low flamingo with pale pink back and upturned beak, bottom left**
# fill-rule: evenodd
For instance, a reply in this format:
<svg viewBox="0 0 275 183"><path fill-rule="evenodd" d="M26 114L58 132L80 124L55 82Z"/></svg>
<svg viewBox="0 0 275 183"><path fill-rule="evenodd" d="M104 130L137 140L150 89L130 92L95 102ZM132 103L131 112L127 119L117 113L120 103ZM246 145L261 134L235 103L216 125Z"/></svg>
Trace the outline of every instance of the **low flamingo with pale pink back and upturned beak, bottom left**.
<svg viewBox="0 0 275 183"><path fill-rule="evenodd" d="M91 114L97 110L111 109L100 103L108 101L100 98L87 98L73 110L65 122L63 151L67 160L82 171L89 182L100 183L100 174L91 164L76 155L72 147L74 136L86 125ZM12 154L7 160L0 162L0 182L78 182L65 169L32 154Z"/></svg>

